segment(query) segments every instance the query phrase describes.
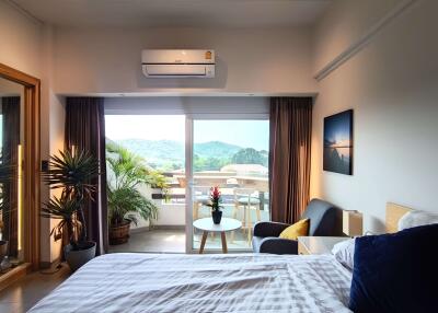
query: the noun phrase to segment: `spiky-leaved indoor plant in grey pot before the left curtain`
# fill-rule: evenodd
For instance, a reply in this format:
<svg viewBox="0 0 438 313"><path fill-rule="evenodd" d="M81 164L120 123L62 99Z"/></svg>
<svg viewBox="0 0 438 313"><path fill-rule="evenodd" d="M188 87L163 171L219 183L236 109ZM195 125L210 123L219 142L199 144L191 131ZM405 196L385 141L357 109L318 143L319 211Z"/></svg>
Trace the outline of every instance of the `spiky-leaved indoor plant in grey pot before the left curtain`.
<svg viewBox="0 0 438 313"><path fill-rule="evenodd" d="M50 235L67 232L69 244L64 253L73 271L95 256L96 243L88 240L83 207L94 200L96 186L91 182L99 175L95 158L85 151L70 150L50 156L48 170L43 173L45 183L50 189L60 190L60 195L45 204L42 216L59 220Z"/></svg>

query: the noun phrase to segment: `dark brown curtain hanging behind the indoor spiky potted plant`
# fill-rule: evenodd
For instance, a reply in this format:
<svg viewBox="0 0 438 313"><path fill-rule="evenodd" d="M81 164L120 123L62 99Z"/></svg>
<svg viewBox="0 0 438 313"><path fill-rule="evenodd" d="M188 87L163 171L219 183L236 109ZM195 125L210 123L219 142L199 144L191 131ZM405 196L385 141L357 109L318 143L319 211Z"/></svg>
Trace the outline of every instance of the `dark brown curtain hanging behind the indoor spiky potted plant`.
<svg viewBox="0 0 438 313"><path fill-rule="evenodd" d="M105 114L103 98L67 97L66 106L66 148L74 146L89 151L100 161L101 175L93 184L97 185L94 201L84 208L88 240L97 243L96 254L107 251L107 198L105 162Z"/></svg>

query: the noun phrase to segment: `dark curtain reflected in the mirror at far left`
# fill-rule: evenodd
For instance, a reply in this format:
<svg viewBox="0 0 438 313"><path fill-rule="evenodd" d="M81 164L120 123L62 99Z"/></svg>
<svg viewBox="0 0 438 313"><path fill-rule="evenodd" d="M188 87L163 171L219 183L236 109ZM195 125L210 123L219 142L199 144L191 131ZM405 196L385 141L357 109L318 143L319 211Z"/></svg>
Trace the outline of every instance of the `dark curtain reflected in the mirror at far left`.
<svg viewBox="0 0 438 313"><path fill-rule="evenodd" d="M18 165L20 144L20 96L1 98L2 151L1 162L11 171L11 179L3 183L3 240L9 241L9 255L19 255Z"/></svg>

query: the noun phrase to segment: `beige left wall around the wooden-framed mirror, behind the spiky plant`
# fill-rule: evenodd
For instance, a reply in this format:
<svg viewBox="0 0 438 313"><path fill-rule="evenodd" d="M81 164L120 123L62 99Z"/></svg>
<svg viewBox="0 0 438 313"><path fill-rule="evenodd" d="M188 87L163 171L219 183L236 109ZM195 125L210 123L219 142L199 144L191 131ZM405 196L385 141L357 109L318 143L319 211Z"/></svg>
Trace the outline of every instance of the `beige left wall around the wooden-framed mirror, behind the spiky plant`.
<svg viewBox="0 0 438 313"><path fill-rule="evenodd" d="M64 107L53 90L53 30L35 21L7 1L0 0L0 62L34 76L42 81L42 158L61 144ZM48 199L48 188L42 186L42 200ZM59 252L49 239L55 221L42 219L41 256L51 262Z"/></svg>

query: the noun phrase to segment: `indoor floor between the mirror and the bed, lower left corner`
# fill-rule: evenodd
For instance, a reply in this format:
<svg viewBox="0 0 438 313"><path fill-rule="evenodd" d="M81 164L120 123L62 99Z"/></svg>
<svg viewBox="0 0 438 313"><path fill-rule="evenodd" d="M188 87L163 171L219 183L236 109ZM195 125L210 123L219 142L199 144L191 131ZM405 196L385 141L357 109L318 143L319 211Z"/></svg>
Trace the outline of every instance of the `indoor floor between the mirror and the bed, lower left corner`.
<svg viewBox="0 0 438 313"><path fill-rule="evenodd" d="M0 291L1 313L22 313L47 295L70 275L67 265L57 269L35 271Z"/></svg>

